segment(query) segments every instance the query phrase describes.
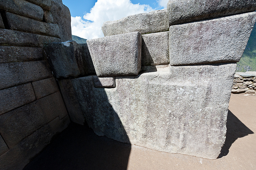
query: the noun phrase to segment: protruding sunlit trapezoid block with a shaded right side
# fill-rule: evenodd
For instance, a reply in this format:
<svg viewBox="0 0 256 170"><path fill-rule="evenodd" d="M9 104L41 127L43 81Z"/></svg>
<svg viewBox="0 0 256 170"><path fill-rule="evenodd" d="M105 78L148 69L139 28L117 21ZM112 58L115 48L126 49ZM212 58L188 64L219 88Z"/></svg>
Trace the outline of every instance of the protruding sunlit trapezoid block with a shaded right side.
<svg viewBox="0 0 256 170"><path fill-rule="evenodd" d="M138 75L142 36L139 32L87 40L98 77Z"/></svg>

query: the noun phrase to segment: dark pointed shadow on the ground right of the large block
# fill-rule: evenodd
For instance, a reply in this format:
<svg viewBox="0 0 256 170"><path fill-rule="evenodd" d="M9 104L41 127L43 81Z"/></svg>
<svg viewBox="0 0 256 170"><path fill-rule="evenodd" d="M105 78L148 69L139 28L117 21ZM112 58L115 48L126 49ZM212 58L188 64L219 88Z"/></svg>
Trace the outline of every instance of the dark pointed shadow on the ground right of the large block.
<svg viewBox="0 0 256 170"><path fill-rule="evenodd" d="M252 132L252 130L246 127L246 125L244 125L230 110L228 110L226 141L218 158L228 154L229 148L236 141L236 139L253 133L254 132Z"/></svg>

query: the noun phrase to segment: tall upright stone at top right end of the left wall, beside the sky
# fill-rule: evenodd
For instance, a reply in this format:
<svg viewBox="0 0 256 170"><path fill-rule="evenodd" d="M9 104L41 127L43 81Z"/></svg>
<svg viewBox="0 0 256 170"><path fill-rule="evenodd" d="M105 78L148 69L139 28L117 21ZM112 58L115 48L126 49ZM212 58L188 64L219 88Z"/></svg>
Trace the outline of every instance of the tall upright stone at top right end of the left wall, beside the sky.
<svg viewBox="0 0 256 170"><path fill-rule="evenodd" d="M71 16L68 7L62 4L62 0L52 0L51 13L54 24L60 28L60 38L62 42L72 40Z"/></svg>

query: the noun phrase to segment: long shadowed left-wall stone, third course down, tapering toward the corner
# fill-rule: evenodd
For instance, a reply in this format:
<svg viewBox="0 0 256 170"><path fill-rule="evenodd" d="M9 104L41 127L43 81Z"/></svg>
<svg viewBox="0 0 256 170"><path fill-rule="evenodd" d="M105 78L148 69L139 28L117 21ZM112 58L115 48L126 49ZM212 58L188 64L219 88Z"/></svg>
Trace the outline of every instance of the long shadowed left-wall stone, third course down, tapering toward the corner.
<svg viewBox="0 0 256 170"><path fill-rule="evenodd" d="M0 45L44 47L47 43L60 42L59 38L0 29Z"/></svg>

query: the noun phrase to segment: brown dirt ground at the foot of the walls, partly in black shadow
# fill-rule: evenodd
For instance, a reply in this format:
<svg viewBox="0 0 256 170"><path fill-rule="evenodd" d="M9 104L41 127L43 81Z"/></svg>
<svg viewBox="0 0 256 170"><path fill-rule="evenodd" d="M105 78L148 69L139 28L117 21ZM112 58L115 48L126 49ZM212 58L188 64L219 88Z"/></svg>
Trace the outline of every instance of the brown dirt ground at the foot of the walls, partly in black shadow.
<svg viewBox="0 0 256 170"><path fill-rule="evenodd" d="M72 123L24 169L255 170L256 96L232 94L227 137L218 159L158 152L97 136Z"/></svg>

